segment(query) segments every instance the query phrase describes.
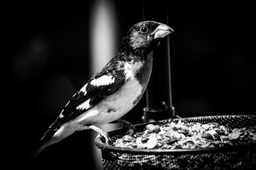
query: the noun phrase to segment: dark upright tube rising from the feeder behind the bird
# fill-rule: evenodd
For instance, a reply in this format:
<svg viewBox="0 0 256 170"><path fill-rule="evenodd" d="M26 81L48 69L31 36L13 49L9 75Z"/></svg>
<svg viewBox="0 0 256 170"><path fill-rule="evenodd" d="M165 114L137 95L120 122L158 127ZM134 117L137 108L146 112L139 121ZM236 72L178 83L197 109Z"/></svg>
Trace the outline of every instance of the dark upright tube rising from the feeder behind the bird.
<svg viewBox="0 0 256 170"><path fill-rule="evenodd" d="M165 10L152 12L156 8L163 8L163 4L144 3L143 1L143 20L156 20L168 24L168 4ZM153 69L146 91L147 108L143 110L143 122L175 117L171 89L170 38L168 36L161 40L161 45L154 51Z"/></svg>

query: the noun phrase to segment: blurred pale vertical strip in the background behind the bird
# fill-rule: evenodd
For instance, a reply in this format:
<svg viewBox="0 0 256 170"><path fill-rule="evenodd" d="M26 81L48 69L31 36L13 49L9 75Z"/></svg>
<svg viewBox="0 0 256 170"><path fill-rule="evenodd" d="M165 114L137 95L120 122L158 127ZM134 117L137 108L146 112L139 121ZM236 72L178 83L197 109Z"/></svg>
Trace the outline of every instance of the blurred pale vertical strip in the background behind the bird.
<svg viewBox="0 0 256 170"><path fill-rule="evenodd" d="M116 15L112 1L97 0L90 18L90 74L97 73L116 52ZM115 129L116 125L104 125L104 131ZM92 132L92 148L96 169L102 169L101 152L94 145L97 132Z"/></svg>

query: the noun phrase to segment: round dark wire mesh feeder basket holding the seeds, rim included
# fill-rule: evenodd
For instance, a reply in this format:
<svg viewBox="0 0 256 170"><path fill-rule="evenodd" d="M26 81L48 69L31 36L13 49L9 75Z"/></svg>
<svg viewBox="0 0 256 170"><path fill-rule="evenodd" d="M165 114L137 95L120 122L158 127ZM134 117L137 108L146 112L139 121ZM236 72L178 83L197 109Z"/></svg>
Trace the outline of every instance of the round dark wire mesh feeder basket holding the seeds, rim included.
<svg viewBox="0 0 256 170"><path fill-rule="evenodd" d="M182 120L201 124L216 122L231 128L256 125L255 115L189 117ZM153 124L161 122L164 120ZM139 124L135 127L138 131L142 131L145 125L147 124ZM122 138L127 129L124 127L108 132L110 143ZM147 150L106 145L104 138L99 137L95 139L95 145L102 151L104 169L253 169L256 166L255 144L218 148Z"/></svg>

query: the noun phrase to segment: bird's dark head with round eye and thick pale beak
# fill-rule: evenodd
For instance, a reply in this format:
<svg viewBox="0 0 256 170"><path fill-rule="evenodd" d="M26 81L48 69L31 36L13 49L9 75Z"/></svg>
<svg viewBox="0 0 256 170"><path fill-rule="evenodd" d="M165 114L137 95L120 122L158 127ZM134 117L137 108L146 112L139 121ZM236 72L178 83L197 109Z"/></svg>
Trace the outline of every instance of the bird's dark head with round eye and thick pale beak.
<svg viewBox="0 0 256 170"><path fill-rule="evenodd" d="M134 53L148 53L154 50L161 38L173 32L168 25L155 22L143 21L133 25L122 41L122 50L131 50Z"/></svg>

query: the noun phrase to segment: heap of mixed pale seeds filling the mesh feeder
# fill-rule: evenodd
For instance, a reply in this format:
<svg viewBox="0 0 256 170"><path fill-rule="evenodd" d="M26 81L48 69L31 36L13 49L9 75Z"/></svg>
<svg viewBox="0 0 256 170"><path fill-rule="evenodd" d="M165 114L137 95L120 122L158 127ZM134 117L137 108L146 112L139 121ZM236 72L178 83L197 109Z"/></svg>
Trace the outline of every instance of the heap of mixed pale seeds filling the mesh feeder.
<svg viewBox="0 0 256 170"><path fill-rule="evenodd" d="M256 126L231 129L217 123L200 124L169 120L166 124L148 124L143 132L129 129L113 144L122 148L193 149L256 143Z"/></svg>

